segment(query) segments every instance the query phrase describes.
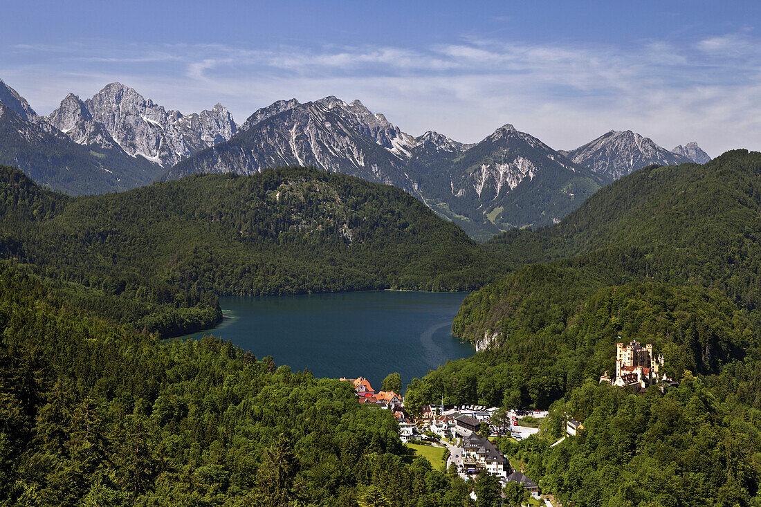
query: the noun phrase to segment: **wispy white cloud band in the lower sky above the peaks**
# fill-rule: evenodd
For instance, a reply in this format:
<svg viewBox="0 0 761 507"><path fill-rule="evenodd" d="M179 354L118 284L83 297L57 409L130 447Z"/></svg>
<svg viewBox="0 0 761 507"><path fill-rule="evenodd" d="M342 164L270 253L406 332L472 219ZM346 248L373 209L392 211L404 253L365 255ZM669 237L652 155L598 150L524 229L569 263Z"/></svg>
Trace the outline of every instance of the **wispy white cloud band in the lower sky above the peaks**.
<svg viewBox="0 0 761 507"><path fill-rule="evenodd" d="M761 149L759 48L750 30L629 47L476 38L424 49L100 41L13 46L16 58L0 65L0 77L42 113L68 91L88 96L110 81L183 111L222 101L239 122L274 100L335 94L360 98L412 134L436 129L473 142L509 122L573 148L609 129L635 129L667 148L696 140L718 155Z"/></svg>

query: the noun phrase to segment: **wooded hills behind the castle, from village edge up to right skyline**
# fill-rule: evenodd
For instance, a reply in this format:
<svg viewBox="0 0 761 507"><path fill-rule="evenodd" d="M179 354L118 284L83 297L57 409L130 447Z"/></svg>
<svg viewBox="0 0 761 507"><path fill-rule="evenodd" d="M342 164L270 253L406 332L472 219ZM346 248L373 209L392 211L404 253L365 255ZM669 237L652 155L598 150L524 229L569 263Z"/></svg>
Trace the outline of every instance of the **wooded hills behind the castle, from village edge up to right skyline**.
<svg viewBox="0 0 761 507"><path fill-rule="evenodd" d="M719 373L758 346L759 216L761 154L737 150L635 171L555 227L495 238L550 263L466 298L454 333L488 350L428 375L421 402L546 407L610 369L619 335L653 343L677 378Z"/></svg>

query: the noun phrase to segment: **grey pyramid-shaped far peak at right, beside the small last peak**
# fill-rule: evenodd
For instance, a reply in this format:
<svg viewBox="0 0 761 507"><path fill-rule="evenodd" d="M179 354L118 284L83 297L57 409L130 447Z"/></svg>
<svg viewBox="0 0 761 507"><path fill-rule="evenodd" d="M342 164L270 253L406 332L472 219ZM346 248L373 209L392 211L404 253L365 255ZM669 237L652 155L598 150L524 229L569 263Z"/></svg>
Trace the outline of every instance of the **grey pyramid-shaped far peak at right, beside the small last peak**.
<svg viewBox="0 0 761 507"><path fill-rule="evenodd" d="M631 130L611 130L568 151L568 158L575 164L614 180L648 165L673 165L690 161L686 156L661 148L652 139Z"/></svg>

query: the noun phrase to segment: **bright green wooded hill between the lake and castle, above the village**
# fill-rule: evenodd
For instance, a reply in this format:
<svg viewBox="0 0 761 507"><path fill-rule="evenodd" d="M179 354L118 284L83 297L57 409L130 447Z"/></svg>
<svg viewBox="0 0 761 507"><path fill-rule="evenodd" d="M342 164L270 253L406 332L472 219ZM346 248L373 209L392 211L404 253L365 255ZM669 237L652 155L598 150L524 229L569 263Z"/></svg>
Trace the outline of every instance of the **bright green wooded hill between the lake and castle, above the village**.
<svg viewBox="0 0 761 507"><path fill-rule="evenodd" d="M716 291L632 282L586 296L593 282L584 273L554 266L531 266L495 285L503 282L511 290L499 292L498 306L510 317L500 322L497 341L473 358L414 379L406 393L410 407L442 396L453 405L549 407L586 379L614 369L618 336L652 343L673 378L685 370L718 373L759 345L747 311ZM490 295L476 293L463 310ZM455 320L458 331L466 325L462 317Z"/></svg>

